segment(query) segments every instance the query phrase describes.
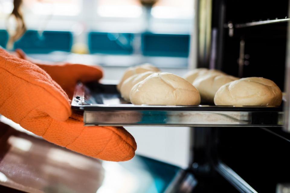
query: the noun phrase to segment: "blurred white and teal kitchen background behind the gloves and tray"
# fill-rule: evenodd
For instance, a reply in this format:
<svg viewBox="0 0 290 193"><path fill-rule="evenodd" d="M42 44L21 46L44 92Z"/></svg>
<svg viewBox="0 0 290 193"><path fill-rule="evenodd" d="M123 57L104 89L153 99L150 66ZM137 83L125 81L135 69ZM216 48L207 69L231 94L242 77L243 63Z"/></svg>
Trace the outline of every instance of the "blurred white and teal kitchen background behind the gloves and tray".
<svg viewBox="0 0 290 193"><path fill-rule="evenodd" d="M0 0L0 45L32 58L101 65L118 81L127 67L145 62L183 76L193 30L193 0L23 0L27 31L17 27L13 0ZM137 153L181 167L188 164L189 128L126 127Z"/></svg>

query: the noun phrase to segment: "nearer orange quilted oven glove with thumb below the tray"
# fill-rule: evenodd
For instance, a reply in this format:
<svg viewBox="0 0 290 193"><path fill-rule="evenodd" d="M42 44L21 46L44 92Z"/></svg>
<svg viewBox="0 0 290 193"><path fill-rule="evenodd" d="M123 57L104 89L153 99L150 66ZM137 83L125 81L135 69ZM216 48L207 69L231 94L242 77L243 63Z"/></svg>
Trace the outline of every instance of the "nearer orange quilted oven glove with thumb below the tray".
<svg viewBox="0 0 290 193"><path fill-rule="evenodd" d="M101 71L95 75L100 78ZM82 80L73 77L74 82ZM72 114L64 90L35 64L0 49L0 80L0 114L23 128L49 142L102 160L134 157L137 145L129 132L123 127L83 126L82 116Z"/></svg>

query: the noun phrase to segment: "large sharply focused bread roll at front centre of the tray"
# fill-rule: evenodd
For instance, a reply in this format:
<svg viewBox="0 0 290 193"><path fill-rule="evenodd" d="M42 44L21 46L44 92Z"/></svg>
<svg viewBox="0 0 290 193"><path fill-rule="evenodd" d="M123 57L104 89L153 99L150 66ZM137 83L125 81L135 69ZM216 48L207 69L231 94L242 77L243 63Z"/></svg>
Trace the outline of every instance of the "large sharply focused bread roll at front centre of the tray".
<svg viewBox="0 0 290 193"><path fill-rule="evenodd" d="M198 90L184 78L171 73L154 73L130 92L132 104L198 105Z"/></svg>

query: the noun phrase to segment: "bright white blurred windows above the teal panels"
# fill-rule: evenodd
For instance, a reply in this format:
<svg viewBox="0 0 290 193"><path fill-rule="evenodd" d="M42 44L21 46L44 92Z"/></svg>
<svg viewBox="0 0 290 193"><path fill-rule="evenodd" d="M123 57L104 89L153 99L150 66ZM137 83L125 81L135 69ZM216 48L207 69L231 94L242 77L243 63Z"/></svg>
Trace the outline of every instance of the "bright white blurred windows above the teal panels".
<svg viewBox="0 0 290 193"><path fill-rule="evenodd" d="M194 0L158 0L151 15L140 0L23 0L27 29L188 34ZM7 20L13 0L0 0L0 29L13 29L14 18ZM84 38L82 38L84 39Z"/></svg>

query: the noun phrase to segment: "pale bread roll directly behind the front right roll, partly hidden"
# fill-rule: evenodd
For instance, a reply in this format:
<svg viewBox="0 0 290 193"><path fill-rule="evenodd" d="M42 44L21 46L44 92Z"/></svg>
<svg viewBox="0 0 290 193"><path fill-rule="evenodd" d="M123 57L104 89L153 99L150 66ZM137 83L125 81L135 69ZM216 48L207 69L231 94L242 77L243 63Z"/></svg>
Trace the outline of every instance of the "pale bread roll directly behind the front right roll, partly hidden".
<svg viewBox="0 0 290 193"><path fill-rule="evenodd" d="M214 103L214 95L218 89L237 79L237 77L221 73L208 73L204 76L198 76L192 84L198 89L202 102Z"/></svg>

